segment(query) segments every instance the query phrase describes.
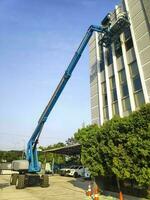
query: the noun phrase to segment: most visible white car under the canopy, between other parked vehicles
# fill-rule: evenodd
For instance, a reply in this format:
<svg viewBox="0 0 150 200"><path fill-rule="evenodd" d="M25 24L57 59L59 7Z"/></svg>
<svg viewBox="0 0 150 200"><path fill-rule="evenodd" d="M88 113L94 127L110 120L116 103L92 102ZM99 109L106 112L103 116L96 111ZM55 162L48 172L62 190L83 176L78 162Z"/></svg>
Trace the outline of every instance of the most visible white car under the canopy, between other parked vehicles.
<svg viewBox="0 0 150 200"><path fill-rule="evenodd" d="M73 176L73 177L77 178L77 177L79 177L79 176L84 176L84 171L85 171L85 169L84 169L83 166L76 166L76 167L70 169L70 170L66 173L66 175L68 175L68 176Z"/></svg>

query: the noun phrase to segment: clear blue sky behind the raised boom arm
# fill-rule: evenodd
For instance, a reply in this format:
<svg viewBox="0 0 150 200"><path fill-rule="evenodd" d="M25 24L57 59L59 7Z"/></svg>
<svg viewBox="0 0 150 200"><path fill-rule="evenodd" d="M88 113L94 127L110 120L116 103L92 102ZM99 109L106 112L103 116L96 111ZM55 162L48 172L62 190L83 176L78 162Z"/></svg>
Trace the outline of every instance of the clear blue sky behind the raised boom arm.
<svg viewBox="0 0 150 200"><path fill-rule="evenodd" d="M22 149L85 31L119 0L0 0L0 149ZM51 112L40 145L89 124L88 48Z"/></svg>

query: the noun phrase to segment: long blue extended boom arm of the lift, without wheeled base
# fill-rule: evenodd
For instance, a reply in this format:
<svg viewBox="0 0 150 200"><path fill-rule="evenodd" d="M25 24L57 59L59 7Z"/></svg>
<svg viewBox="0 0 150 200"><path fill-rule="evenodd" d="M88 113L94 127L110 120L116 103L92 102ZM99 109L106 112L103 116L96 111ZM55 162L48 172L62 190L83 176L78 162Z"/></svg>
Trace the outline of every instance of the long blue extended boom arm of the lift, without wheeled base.
<svg viewBox="0 0 150 200"><path fill-rule="evenodd" d="M48 102L46 108L44 109L44 111L38 121L38 125L36 126L35 131L33 132L32 136L28 142L26 159L29 161L29 172L40 171L37 149L36 149L40 133L42 131L44 123L46 122L51 110L53 109L53 107L54 107L55 103L57 102L60 94L62 93L66 83L68 82L69 78L71 77L71 74L72 74L76 64L78 63L78 61L81 57L81 54L82 54L83 50L85 49L85 47L86 47L88 41L90 40L92 33L94 31L103 33L104 29L102 27L93 26L93 25L88 28L82 42L80 43L77 51L75 52L67 70L65 71L56 90L54 91L50 101Z"/></svg>

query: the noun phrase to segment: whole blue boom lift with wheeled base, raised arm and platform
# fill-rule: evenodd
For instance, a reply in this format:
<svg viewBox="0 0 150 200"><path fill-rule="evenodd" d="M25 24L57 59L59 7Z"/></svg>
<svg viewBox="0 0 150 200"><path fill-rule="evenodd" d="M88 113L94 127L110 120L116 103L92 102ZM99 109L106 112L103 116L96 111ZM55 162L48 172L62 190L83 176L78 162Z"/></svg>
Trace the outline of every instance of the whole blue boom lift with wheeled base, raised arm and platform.
<svg viewBox="0 0 150 200"><path fill-rule="evenodd" d="M109 19L109 15L106 16ZM119 23L117 23L117 26L121 26L122 18ZM107 21L105 19L105 21ZM119 27L118 26L118 27ZM124 25L123 25L124 26ZM120 28L119 28L120 29ZM104 46L108 46L109 40L112 37L112 33L110 27L105 26L94 26L91 25L83 40L81 41L77 51L75 52L69 66L67 67L67 70L65 71L62 79L60 80L56 90L54 91L50 101L48 102L46 108L44 109L38 124L30 138L27 144L27 150L26 150L26 160L15 160L12 162L12 169L14 171L18 171L19 174L13 174L11 176L10 184L16 185L17 189L22 189L25 186L32 186L32 185L41 185L42 187L48 187L49 186L49 180L48 176L46 174L40 175L38 172L41 170L41 167L39 165L38 160L38 154L37 154L37 143L38 139L40 137L42 128L44 126L44 123L46 122L50 112L52 111L55 103L57 102L60 94L62 93L65 85L67 84L69 78L71 77L71 74L77 65L86 45L88 44L93 32L99 32L103 36L103 44Z"/></svg>

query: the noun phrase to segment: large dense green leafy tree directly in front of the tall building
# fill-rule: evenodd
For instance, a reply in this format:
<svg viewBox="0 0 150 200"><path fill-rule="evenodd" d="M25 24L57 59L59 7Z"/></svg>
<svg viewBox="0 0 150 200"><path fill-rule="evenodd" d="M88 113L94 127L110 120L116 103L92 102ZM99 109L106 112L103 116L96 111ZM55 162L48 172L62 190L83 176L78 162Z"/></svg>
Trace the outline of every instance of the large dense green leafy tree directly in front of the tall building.
<svg viewBox="0 0 150 200"><path fill-rule="evenodd" d="M82 163L94 176L115 175L150 185L150 104L101 127L79 129L75 138L82 144Z"/></svg>

